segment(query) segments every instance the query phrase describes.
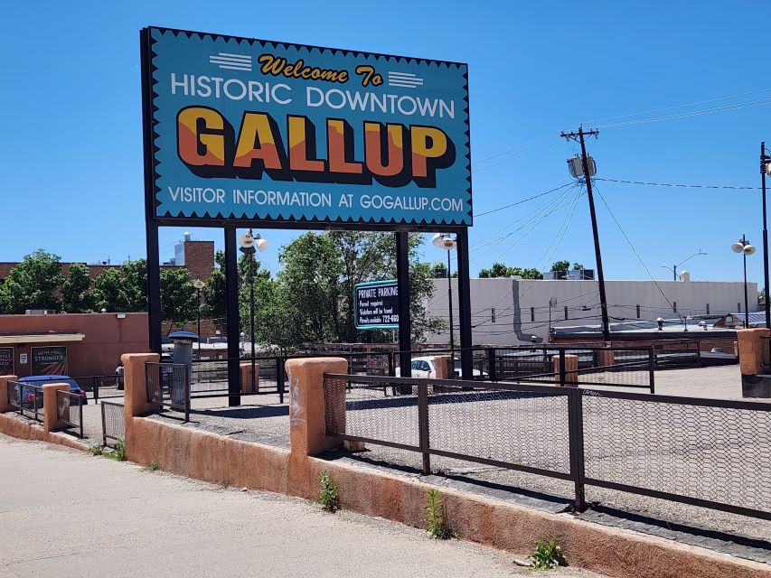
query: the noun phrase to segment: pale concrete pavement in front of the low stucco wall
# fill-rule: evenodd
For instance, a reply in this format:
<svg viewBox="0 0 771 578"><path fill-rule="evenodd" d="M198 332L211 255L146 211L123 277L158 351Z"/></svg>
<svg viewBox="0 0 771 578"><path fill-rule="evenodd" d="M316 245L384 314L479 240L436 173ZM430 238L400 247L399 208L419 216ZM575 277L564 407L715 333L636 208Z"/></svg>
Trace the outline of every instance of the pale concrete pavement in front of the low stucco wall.
<svg viewBox="0 0 771 578"><path fill-rule="evenodd" d="M468 542L45 443L0 435L0 463L0 578L533 575Z"/></svg>

